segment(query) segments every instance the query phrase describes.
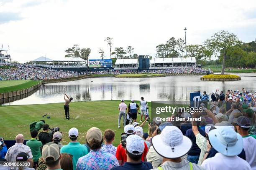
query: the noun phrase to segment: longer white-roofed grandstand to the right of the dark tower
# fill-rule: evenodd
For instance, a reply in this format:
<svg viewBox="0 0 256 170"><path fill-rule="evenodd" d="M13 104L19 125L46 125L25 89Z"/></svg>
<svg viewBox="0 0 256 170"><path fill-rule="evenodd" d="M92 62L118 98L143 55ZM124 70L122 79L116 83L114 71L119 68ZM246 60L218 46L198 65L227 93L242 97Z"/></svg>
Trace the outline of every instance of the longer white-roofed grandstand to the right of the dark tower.
<svg viewBox="0 0 256 170"><path fill-rule="evenodd" d="M195 57L187 58L152 58L149 69L166 69L172 67L196 67Z"/></svg>

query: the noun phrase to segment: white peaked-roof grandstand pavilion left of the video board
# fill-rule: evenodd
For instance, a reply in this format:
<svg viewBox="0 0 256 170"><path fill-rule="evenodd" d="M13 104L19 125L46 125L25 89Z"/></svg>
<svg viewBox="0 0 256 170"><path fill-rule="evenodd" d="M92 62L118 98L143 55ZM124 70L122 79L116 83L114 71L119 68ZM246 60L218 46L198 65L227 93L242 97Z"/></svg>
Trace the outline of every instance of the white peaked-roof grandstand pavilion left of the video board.
<svg viewBox="0 0 256 170"><path fill-rule="evenodd" d="M48 57L39 57L31 61L34 66L47 68L76 68L87 67L85 60L80 57L63 57L61 59L52 59Z"/></svg>

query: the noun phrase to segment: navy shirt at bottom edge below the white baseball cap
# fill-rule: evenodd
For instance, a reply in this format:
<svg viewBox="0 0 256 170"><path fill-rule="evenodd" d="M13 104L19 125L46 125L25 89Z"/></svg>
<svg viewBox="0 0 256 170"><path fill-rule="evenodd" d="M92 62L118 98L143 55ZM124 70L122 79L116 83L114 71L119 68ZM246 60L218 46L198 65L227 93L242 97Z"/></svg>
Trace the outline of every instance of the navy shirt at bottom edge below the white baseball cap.
<svg viewBox="0 0 256 170"><path fill-rule="evenodd" d="M122 166L114 167L111 170L151 170L153 166L148 162L128 163L125 162Z"/></svg>

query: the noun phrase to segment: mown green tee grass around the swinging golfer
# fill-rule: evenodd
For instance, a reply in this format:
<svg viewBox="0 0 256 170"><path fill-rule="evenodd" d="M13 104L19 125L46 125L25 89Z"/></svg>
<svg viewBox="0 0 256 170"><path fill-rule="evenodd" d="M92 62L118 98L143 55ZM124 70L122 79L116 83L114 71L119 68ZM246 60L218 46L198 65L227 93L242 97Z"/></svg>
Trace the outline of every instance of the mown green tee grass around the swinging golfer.
<svg viewBox="0 0 256 170"><path fill-rule="evenodd" d="M65 119L63 103L40 104L40 105L12 105L0 106L1 130L0 136L5 140L14 140L19 133L25 139L30 139L29 125L31 122L45 120L50 128L59 127L63 133L62 143L69 142L68 131L70 128L79 130L79 142L84 143L85 133L95 126L102 130L112 129L115 131L114 144L120 143L120 134L123 133L123 126L118 129L118 105L119 100L71 102L70 120ZM137 102L138 103L138 102ZM128 105L128 102L126 102ZM151 103L148 102L151 106ZM149 107L149 111L151 108ZM48 114L51 116L47 119ZM140 120L140 115L138 119ZM144 132L148 131L148 122L143 127Z"/></svg>

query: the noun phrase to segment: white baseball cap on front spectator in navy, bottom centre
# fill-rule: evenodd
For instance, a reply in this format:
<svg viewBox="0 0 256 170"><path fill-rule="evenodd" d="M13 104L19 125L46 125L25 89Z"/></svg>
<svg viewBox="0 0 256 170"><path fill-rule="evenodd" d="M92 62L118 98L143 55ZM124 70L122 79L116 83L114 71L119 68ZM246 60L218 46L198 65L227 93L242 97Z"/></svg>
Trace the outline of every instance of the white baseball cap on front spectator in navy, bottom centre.
<svg viewBox="0 0 256 170"><path fill-rule="evenodd" d="M144 148L144 140L138 135L130 135L126 138L126 150L129 153L133 155L141 155L144 152Z"/></svg>

